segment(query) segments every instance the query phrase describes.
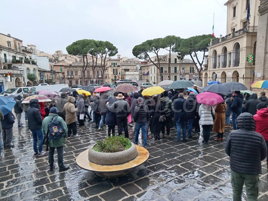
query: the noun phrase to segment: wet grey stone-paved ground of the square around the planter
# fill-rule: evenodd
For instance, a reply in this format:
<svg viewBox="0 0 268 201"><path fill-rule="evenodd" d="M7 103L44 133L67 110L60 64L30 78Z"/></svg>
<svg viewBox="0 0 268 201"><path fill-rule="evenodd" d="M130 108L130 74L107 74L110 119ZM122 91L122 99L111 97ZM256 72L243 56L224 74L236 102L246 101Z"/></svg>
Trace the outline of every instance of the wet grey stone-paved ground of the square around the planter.
<svg viewBox="0 0 268 201"><path fill-rule="evenodd" d="M24 121L24 116L22 117ZM86 123L78 128L79 137L66 140L65 164L70 169L59 173L55 155L55 171L49 171L48 156L34 157L31 132L25 127L13 127L14 148L2 150L0 157L0 200L232 200L229 157L223 142L202 144L194 135L187 143L170 139L148 141L149 159L128 175L106 179L82 170L76 157L89 145L107 136L106 127L100 132ZM130 138L134 135L129 128ZM227 130L226 130L227 131ZM141 139L139 144L141 145ZM56 154L56 153L55 153ZM268 200L268 171L262 162L259 200ZM243 200L246 191L243 190Z"/></svg>

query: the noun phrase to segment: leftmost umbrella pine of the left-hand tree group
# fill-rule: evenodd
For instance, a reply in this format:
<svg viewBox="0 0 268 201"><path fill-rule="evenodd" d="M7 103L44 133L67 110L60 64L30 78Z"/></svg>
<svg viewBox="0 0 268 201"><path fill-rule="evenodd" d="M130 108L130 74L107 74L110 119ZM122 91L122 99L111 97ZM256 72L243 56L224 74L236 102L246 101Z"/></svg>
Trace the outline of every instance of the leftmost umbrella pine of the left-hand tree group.
<svg viewBox="0 0 268 201"><path fill-rule="evenodd" d="M82 67L82 85L85 85L85 72L88 68L87 54L94 46L94 40L83 39L73 42L71 45L66 47L68 54L83 56L83 67Z"/></svg>

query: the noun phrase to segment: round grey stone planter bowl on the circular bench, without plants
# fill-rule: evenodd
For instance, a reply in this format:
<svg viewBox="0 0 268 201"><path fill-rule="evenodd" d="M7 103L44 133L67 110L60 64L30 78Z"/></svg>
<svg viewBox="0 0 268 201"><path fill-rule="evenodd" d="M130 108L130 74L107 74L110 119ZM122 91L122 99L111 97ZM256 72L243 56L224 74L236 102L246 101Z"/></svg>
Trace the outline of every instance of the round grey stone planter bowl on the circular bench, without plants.
<svg viewBox="0 0 268 201"><path fill-rule="evenodd" d="M131 147L124 151L114 153L104 153L93 150L93 146L89 147L89 160L100 165L117 165L134 159L138 152L136 146L131 142Z"/></svg>

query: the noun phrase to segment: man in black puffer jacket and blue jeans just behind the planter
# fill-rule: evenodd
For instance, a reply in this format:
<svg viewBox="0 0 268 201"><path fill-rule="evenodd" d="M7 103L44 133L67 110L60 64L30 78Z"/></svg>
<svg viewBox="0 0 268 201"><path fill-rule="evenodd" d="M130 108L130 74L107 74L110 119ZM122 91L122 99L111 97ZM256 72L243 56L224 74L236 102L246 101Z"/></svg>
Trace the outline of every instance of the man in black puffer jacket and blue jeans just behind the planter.
<svg viewBox="0 0 268 201"><path fill-rule="evenodd" d="M143 99L141 97L137 99L137 103L138 104L136 105L133 113L133 119L134 122L136 122L136 133L135 133L135 139L132 140L132 142L136 145L138 144L138 138L141 129L143 134L144 148L147 149L148 147L147 147L147 136L146 136L146 124L147 121L150 119L150 112L149 108L143 103Z"/></svg>

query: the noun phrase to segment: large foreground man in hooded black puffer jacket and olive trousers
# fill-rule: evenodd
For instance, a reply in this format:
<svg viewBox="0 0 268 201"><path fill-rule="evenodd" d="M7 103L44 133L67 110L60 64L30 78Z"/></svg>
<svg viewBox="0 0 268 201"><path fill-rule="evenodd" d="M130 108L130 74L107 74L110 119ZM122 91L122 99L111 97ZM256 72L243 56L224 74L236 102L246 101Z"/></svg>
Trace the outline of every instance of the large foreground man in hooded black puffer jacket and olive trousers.
<svg viewBox="0 0 268 201"><path fill-rule="evenodd" d="M255 132L255 121L250 113L237 117L237 126L239 129L229 134L225 144L225 151L230 156L233 200L241 200L244 183L247 199L257 200L261 160L267 155L266 142Z"/></svg>

